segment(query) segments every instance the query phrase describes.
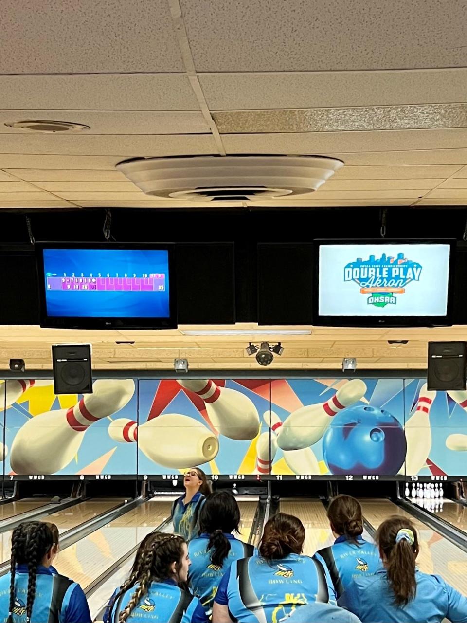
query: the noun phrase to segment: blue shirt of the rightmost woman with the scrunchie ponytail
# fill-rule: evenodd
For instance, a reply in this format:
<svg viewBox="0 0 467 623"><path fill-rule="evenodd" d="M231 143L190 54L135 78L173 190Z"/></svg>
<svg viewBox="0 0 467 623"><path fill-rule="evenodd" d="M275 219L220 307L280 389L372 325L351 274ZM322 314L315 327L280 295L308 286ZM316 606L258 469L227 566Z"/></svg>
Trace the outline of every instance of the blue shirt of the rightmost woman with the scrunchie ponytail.
<svg viewBox="0 0 467 623"><path fill-rule="evenodd" d="M374 576L355 579L344 602L362 623L467 623L467 599L440 576L415 572L417 593L407 606L396 606L385 569Z"/></svg>

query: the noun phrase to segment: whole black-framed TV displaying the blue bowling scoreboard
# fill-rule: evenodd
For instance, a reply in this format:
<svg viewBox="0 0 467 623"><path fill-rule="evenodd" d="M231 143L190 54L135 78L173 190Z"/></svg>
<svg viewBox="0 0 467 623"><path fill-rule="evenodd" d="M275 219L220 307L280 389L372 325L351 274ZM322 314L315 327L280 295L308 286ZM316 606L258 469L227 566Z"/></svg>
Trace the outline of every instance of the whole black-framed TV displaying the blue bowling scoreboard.
<svg viewBox="0 0 467 623"><path fill-rule="evenodd" d="M40 326L177 326L172 245L38 243Z"/></svg>

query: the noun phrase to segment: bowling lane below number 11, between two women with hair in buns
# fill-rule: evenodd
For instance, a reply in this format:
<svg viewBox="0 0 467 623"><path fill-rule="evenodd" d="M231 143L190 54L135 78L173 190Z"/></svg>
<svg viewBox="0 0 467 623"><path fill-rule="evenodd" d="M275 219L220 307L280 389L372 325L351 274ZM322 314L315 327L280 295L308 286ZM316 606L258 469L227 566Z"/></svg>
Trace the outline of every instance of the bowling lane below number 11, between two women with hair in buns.
<svg viewBox="0 0 467 623"><path fill-rule="evenodd" d="M303 553L313 556L317 549L333 545L334 537L329 528L326 508L319 500L281 500L281 513L295 515L303 523L306 535Z"/></svg>

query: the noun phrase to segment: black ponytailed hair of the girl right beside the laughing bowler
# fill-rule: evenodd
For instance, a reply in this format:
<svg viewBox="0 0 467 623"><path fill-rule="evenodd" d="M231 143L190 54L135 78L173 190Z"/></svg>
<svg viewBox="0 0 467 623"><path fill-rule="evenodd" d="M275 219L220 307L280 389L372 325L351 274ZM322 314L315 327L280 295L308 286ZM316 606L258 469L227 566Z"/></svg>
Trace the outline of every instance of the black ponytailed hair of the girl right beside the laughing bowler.
<svg viewBox="0 0 467 623"><path fill-rule="evenodd" d="M238 532L240 508L237 500L227 491L211 493L199 513L199 526L202 533L209 535L207 549L210 550L210 561L222 567L229 555L230 541L225 536Z"/></svg>

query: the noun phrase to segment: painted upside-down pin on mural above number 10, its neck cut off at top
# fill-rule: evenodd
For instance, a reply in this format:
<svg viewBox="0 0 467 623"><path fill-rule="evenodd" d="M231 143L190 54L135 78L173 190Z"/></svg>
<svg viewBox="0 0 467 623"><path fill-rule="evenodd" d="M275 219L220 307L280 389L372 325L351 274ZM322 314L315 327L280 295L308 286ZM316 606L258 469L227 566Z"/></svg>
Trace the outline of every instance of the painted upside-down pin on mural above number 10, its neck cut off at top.
<svg viewBox="0 0 467 623"><path fill-rule="evenodd" d="M177 381L182 388L202 398L212 425L221 435L238 440L255 439L260 430L260 416L248 396L206 379Z"/></svg>

